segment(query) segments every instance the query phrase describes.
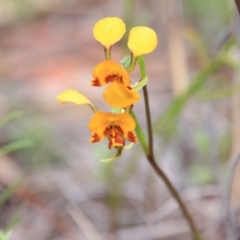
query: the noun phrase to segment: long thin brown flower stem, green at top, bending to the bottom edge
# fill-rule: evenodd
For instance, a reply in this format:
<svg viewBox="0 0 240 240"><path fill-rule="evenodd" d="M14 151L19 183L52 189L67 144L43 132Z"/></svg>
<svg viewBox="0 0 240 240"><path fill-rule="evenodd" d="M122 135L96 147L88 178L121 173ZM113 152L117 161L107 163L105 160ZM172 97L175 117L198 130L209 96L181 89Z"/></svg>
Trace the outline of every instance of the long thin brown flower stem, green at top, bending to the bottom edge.
<svg viewBox="0 0 240 240"><path fill-rule="evenodd" d="M144 58L142 56L138 57L138 63L140 66L140 73L141 73L141 79L144 79L146 77L146 69L145 69L145 62ZM192 231L193 234L193 239L194 240L201 240L201 235L198 232L195 223L189 214L185 204L183 203L180 195L178 194L177 190L174 188L172 183L170 182L169 178L167 175L162 171L162 169L158 166L155 156L154 156L154 151L153 151L153 132L152 132L152 123L151 123L151 113L150 113L150 107L149 107L149 100L148 100L148 92L147 92L147 87L143 87L143 94L144 94L144 103L145 103L145 110L146 110L146 118L147 118L147 128L148 128L148 151L145 153L146 157L157 173L157 175L165 182L167 185L169 191L171 192L172 196L175 198L175 200L178 202L180 209L182 210L182 213L186 220L188 221L189 227Z"/></svg>

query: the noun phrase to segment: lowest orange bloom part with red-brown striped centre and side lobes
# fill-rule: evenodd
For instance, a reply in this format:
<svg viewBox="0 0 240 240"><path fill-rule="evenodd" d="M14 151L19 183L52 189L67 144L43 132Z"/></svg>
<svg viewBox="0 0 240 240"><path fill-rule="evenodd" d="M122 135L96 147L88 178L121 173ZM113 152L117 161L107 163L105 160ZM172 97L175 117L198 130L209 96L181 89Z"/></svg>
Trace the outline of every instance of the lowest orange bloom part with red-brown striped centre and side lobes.
<svg viewBox="0 0 240 240"><path fill-rule="evenodd" d="M137 137L133 130L136 124L134 119L126 112L116 114L109 112L97 112L91 118L88 128L92 132L90 143L95 143L108 138L109 149L123 147L125 139L137 143Z"/></svg>

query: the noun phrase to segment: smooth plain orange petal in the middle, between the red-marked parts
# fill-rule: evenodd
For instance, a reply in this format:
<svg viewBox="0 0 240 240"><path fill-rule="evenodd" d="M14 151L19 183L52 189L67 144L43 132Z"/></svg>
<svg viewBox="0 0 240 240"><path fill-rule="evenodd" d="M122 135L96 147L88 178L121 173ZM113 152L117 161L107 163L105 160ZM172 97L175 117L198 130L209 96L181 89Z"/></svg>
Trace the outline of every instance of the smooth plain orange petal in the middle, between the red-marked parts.
<svg viewBox="0 0 240 240"><path fill-rule="evenodd" d="M140 99L140 94L124 85L113 82L103 93L106 103L111 107L126 108Z"/></svg>

